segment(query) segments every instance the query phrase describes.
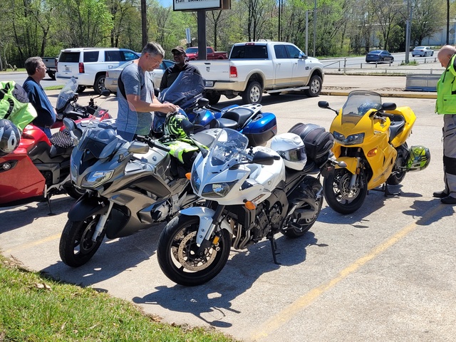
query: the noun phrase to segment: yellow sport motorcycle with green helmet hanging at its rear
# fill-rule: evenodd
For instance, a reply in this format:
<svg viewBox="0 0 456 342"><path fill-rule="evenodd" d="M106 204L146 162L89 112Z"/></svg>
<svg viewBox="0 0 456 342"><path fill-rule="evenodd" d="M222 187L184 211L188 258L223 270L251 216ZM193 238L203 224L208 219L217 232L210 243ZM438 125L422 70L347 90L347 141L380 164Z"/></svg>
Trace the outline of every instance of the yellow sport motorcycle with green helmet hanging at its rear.
<svg viewBox="0 0 456 342"><path fill-rule="evenodd" d="M333 110L328 102L318 107ZM381 102L378 93L353 90L336 113L330 132L334 136L333 153L338 167L323 182L328 205L341 214L349 214L363 205L368 190L398 185L409 171L423 170L430 162L429 149L408 147L416 116L410 107Z"/></svg>

